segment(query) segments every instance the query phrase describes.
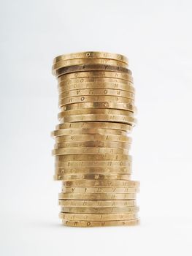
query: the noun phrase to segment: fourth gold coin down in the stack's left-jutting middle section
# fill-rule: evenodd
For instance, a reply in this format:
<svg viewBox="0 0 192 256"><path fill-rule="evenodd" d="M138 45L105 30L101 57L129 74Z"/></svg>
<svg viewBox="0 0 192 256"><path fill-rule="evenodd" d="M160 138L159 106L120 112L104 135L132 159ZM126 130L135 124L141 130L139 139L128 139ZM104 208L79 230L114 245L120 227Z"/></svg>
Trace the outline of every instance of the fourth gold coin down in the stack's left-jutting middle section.
<svg viewBox="0 0 192 256"><path fill-rule="evenodd" d="M84 142L64 142L64 143L56 143L54 148L84 148L84 147L96 147L96 148L122 148L122 149L130 149L130 143L124 142L108 142L108 141L84 141Z"/></svg>

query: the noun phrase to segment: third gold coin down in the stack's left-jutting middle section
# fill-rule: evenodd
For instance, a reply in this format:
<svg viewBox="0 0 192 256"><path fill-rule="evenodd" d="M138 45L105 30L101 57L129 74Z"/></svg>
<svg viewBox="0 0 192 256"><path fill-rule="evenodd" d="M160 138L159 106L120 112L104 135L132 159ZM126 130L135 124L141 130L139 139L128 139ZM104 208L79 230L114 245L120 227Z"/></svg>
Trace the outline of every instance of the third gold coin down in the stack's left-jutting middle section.
<svg viewBox="0 0 192 256"><path fill-rule="evenodd" d="M131 143L131 138L123 135L64 135L55 138L56 143L65 141L84 141L84 140L105 140L105 141L120 141Z"/></svg>

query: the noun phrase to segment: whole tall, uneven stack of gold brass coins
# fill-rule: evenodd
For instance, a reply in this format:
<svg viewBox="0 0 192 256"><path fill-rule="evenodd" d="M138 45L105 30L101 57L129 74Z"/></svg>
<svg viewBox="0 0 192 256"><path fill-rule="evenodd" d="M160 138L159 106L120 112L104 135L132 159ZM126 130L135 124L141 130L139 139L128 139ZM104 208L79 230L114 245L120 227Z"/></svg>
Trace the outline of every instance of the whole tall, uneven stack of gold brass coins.
<svg viewBox="0 0 192 256"><path fill-rule="evenodd" d="M83 52L58 56L60 124L55 180L62 181L59 214L72 227L137 225L139 181L131 180L134 84L125 56Z"/></svg>

